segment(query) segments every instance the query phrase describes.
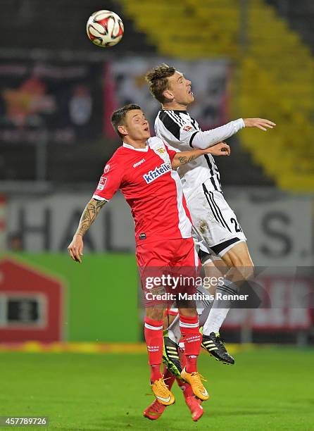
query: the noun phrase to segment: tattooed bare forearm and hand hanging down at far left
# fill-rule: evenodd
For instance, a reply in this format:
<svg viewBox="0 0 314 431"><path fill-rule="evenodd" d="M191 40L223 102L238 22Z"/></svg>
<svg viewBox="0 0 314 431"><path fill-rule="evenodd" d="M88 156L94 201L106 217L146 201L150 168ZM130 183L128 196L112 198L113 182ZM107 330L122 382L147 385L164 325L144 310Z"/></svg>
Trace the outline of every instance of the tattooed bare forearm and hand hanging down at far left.
<svg viewBox="0 0 314 431"><path fill-rule="evenodd" d="M82 263L84 246L83 237L87 230L89 230L90 225L92 225L104 204L106 204L106 201L98 201L92 198L87 204L87 206L85 206L80 218L80 223L74 234L73 240L68 246L70 258L73 258L73 261Z"/></svg>

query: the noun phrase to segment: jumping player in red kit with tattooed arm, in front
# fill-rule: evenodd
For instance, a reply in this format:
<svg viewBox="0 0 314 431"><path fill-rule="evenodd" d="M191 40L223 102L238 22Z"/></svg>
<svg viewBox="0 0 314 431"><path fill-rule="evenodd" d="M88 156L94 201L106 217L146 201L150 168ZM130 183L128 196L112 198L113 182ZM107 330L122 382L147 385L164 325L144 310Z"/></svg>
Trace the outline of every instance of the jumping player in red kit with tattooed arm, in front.
<svg viewBox="0 0 314 431"><path fill-rule="evenodd" d="M101 207L120 189L134 218L140 273L147 274L148 268L196 268L198 258L191 238L191 220L175 168L201 156L208 149L180 153L168 149L162 139L151 137L149 123L137 105L118 109L113 113L111 122L123 139L123 145L106 164L94 195L82 213L73 241L68 246L70 257L81 262L84 233ZM224 143L218 144L219 148L229 151L229 146ZM142 284L145 281L145 277L142 278ZM151 366L151 389L158 402L167 406L173 404L175 398L161 374L165 308L156 306L155 301L150 301L148 297L145 304L145 339ZM201 336L195 304L191 308L181 306L179 312L187 363L182 370L182 378L189 382L199 399L206 400L208 393L196 370Z"/></svg>

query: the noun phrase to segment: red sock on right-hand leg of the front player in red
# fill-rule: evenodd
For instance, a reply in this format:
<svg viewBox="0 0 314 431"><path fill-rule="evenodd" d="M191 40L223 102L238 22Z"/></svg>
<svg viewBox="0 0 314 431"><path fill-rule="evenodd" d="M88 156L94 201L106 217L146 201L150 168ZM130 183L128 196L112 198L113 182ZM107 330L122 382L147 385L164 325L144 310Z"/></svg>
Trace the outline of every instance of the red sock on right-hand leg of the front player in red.
<svg viewBox="0 0 314 431"><path fill-rule="evenodd" d="M194 373L196 369L197 356L201 350L201 334L199 333L198 316L182 316L180 314L180 330L184 342L184 354L187 359L185 370Z"/></svg>

